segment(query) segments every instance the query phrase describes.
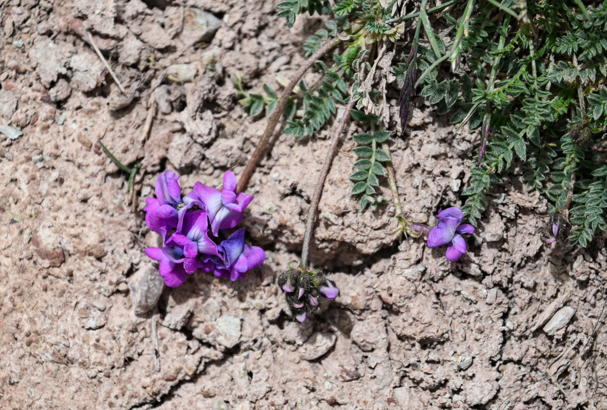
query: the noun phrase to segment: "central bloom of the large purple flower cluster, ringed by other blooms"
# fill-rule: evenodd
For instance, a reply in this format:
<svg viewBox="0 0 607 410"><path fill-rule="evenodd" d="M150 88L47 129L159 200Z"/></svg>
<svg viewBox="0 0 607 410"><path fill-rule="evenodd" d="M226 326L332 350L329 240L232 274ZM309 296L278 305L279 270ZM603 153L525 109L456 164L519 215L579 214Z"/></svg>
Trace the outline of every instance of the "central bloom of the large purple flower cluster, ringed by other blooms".
<svg viewBox="0 0 607 410"><path fill-rule="evenodd" d="M194 273L196 269L202 268L202 261L197 259L198 254L219 256L217 245L209 238L207 232L209 220L206 213L196 210L186 213L180 221L177 232L172 234L166 241L169 246L180 246L183 248L183 267L187 273ZM180 232L180 233L179 233Z"/></svg>

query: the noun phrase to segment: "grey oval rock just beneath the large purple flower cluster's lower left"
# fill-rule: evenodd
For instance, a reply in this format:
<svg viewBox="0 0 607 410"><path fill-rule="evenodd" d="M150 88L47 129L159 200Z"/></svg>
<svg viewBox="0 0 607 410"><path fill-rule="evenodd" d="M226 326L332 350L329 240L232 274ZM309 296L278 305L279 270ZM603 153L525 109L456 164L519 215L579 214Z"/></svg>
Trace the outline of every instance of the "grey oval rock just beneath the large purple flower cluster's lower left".
<svg viewBox="0 0 607 410"><path fill-rule="evenodd" d="M129 278L131 301L135 314L151 311L164 289L164 280L151 264L142 266Z"/></svg>

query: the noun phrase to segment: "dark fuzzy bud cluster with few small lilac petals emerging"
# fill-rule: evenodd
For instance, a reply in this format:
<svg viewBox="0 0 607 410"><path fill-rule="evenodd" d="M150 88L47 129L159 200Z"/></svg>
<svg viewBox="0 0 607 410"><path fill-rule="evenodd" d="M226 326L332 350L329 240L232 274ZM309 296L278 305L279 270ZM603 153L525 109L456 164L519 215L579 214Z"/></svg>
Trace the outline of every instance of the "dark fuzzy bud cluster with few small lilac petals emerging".
<svg viewBox="0 0 607 410"><path fill-rule="evenodd" d="M318 314L323 299L339 296L335 282L320 270L291 269L283 272L277 283L285 293L291 316L299 322L305 321L308 312Z"/></svg>

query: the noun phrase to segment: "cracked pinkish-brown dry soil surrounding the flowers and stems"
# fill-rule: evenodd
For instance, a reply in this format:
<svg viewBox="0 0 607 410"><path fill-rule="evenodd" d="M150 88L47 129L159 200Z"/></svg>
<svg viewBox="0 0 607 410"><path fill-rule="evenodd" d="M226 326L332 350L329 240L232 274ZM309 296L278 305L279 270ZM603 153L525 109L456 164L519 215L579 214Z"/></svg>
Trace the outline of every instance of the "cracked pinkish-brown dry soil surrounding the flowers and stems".
<svg viewBox="0 0 607 410"><path fill-rule="evenodd" d="M164 288L157 314L135 313L156 268L143 207L158 171L186 190L239 175L265 119L246 115L230 78L279 89L275 74L293 74L322 27L287 29L276 2L0 0L0 124L22 131L0 134L0 408L607 408L605 239L544 246L546 203L520 178L490 197L452 263L422 240L396 242L393 208L358 210L346 138L311 253L341 296L304 325L288 317L274 283L299 258L336 124L278 137L257 168L244 224L268 255L261 268L236 283L198 274ZM479 138L415 104L412 135L391 148L405 210L433 224L461 204ZM134 208L98 139L141 162Z"/></svg>

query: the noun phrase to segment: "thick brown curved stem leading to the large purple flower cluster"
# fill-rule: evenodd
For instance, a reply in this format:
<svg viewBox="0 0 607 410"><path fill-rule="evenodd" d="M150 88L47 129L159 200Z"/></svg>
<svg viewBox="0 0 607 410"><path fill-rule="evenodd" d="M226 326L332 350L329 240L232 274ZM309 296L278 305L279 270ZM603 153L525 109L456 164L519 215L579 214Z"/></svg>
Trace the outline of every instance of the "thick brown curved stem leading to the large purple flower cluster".
<svg viewBox="0 0 607 410"><path fill-rule="evenodd" d="M278 124L280 115L282 114L282 111L285 108L285 105L287 104L288 98L291 95L291 91L293 91L293 88L304 76L308 68L310 68L311 65L314 64L317 59L319 59L322 55L327 53L327 51L331 50L331 48L335 47L337 44L339 44L339 42L342 41L342 35L345 35L345 33L342 33L341 35L327 42L327 44L320 47L319 50L316 51L316 53L314 53L310 56L310 58L304 61L304 64L299 67L299 70L297 70L293 78L291 78L291 81L289 82L289 84L287 84L287 87L285 87L285 90L280 95L280 98L278 99L278 102L276 104L276 108L274 108L274 111L270 115L270 118L268 118L268 125L266 125L266 129L265 131L263 131L262 139L260 139L259 143L257 144L257 147L255 147L251 158L249 158L249 161L245 165L245 169L240 175L236 191L242 192L246 189L246 185L249 183L251 175L253 175L253 171L257 166L257 162L259 162L259 160L261 159L263 151L265 151L266 145L268 145L268 142L270 142L270 138L274 133L274 128L276 128L276 124Z"/></svg>

